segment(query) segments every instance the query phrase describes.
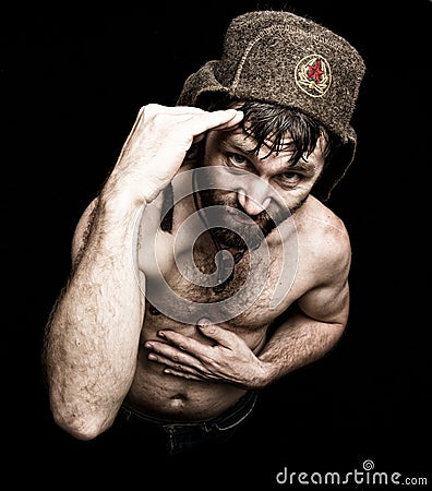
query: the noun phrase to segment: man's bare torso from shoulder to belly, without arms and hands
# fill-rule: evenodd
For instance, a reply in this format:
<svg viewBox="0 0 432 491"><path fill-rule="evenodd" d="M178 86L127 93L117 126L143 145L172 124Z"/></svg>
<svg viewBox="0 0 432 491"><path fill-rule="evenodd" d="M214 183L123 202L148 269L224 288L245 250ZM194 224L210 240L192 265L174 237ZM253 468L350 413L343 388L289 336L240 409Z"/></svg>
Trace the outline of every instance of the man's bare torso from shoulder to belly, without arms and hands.
<svg viewBox="0 0 432 491"><path fill-rule="evenodd" d="M189 261L181 261L183 251L175 249L175 238L179 226L195 208L191 199L176 208L171 232L158 231L154 249L144 247L139 254L139 266L146 271L147 276L147 300L136 373L127 402L149 416L179 421L202 420L229 408L244 394L244 390L165 374L161 364L147 359L148 350L144 343L158 338L159 330L173 330L211 344L212 340L196 327L204 318L238 334L257 355L269 326L314 286L314 262L320 240L327 237L326 229L344 229L344 226L332 212L310 196L288 220L284 238L274 230L266 242L268 249L262 244L259 251L247 252L235 265L233 276L225 288L216 288L215 291L215 288L197 286L184 278L184 267L193 270L194 266L190 264L190 256ZM149 240L147 230L142 227L140 242L148 244ZM197 241L193 254L199 271L204 275L214 273L215 252L207 232ZM156 270L152 254L157 259ZM148 262L152 271L146 268ZM167 288L159 296L152 291L157 289L157 283L152 283L155 274L159 279L163 277L164 288ZM152 297L155 299L153 302L148 300Z"/></svg>

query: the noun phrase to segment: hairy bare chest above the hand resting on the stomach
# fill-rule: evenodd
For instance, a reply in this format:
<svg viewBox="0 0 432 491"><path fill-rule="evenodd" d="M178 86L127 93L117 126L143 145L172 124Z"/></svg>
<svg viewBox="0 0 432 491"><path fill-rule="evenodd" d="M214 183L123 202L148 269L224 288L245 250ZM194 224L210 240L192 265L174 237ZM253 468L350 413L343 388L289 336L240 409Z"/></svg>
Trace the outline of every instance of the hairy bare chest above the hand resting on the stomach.
<svg viewBox="0 0 432 491"><path fill-rule="evenodd" d="M263 244L240 256L215 252L204 248L172 255L164 273L147 276L151 311L182 324L208 319L256 328L272 323L295 300L296 251Z"/></svg>

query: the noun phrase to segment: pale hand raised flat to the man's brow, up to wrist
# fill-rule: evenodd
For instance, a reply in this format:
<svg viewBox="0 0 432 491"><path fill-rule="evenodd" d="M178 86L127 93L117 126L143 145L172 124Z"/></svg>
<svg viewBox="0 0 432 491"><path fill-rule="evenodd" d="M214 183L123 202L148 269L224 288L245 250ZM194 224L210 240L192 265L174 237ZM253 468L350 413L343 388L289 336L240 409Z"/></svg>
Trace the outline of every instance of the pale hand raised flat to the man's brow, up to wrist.
<svg viewBox="0 0 432 491"><path fill-rule="evenodd" d="M208 130L229 130L243 113L149 104L140 109L105 191L129 203L152 202L180 168L191 145Z"/></svg>

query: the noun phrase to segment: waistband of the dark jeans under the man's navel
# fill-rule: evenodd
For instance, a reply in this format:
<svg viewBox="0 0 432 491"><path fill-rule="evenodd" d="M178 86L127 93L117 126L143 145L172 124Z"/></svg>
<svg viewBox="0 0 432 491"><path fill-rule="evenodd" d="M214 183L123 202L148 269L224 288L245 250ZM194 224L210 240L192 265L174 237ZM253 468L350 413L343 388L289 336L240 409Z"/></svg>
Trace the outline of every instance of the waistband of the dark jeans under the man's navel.
<svg viewBox="0 0 432 491"><path fill-rule="evenodd" d="M221 412L218 416L215 416L214 418L208 419L201 419L201 420L192 420L192 421L168 421L166 419L156 418L154 416L148 416L144 412L137 411L134 408L131 408L125 403L122 404L120 410L123 412L123 415L127 417L134 417L137 420L141 420L143 422L153 423L158 427L188 427L188 426L196 426L196 424L205 424L205 426L213 426L213 424L229 424L232 422L232 424L236 424L240 422L242 419L244 419L253 409L255 406L257 398L257 391L248 391L245 394L243 394L237 403L235 403L231 407L226 409L224 412Z"/></svg>

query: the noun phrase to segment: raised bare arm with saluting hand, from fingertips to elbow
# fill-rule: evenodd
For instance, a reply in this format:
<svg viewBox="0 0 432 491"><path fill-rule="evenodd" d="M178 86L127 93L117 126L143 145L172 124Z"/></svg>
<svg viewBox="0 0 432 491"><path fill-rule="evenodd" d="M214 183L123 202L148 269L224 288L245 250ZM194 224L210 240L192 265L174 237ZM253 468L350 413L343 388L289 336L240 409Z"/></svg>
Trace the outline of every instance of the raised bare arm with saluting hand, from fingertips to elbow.
<svg viewBox="0 0 432 491"><path fill-rule="evenodd" d="M56 422L77 439L108 429L132 383L144 295L135 229L181 166L191 144L242 113L148 105L139 112L97 201L72 242L72 271L50 314L44 364Z"/></svg>

